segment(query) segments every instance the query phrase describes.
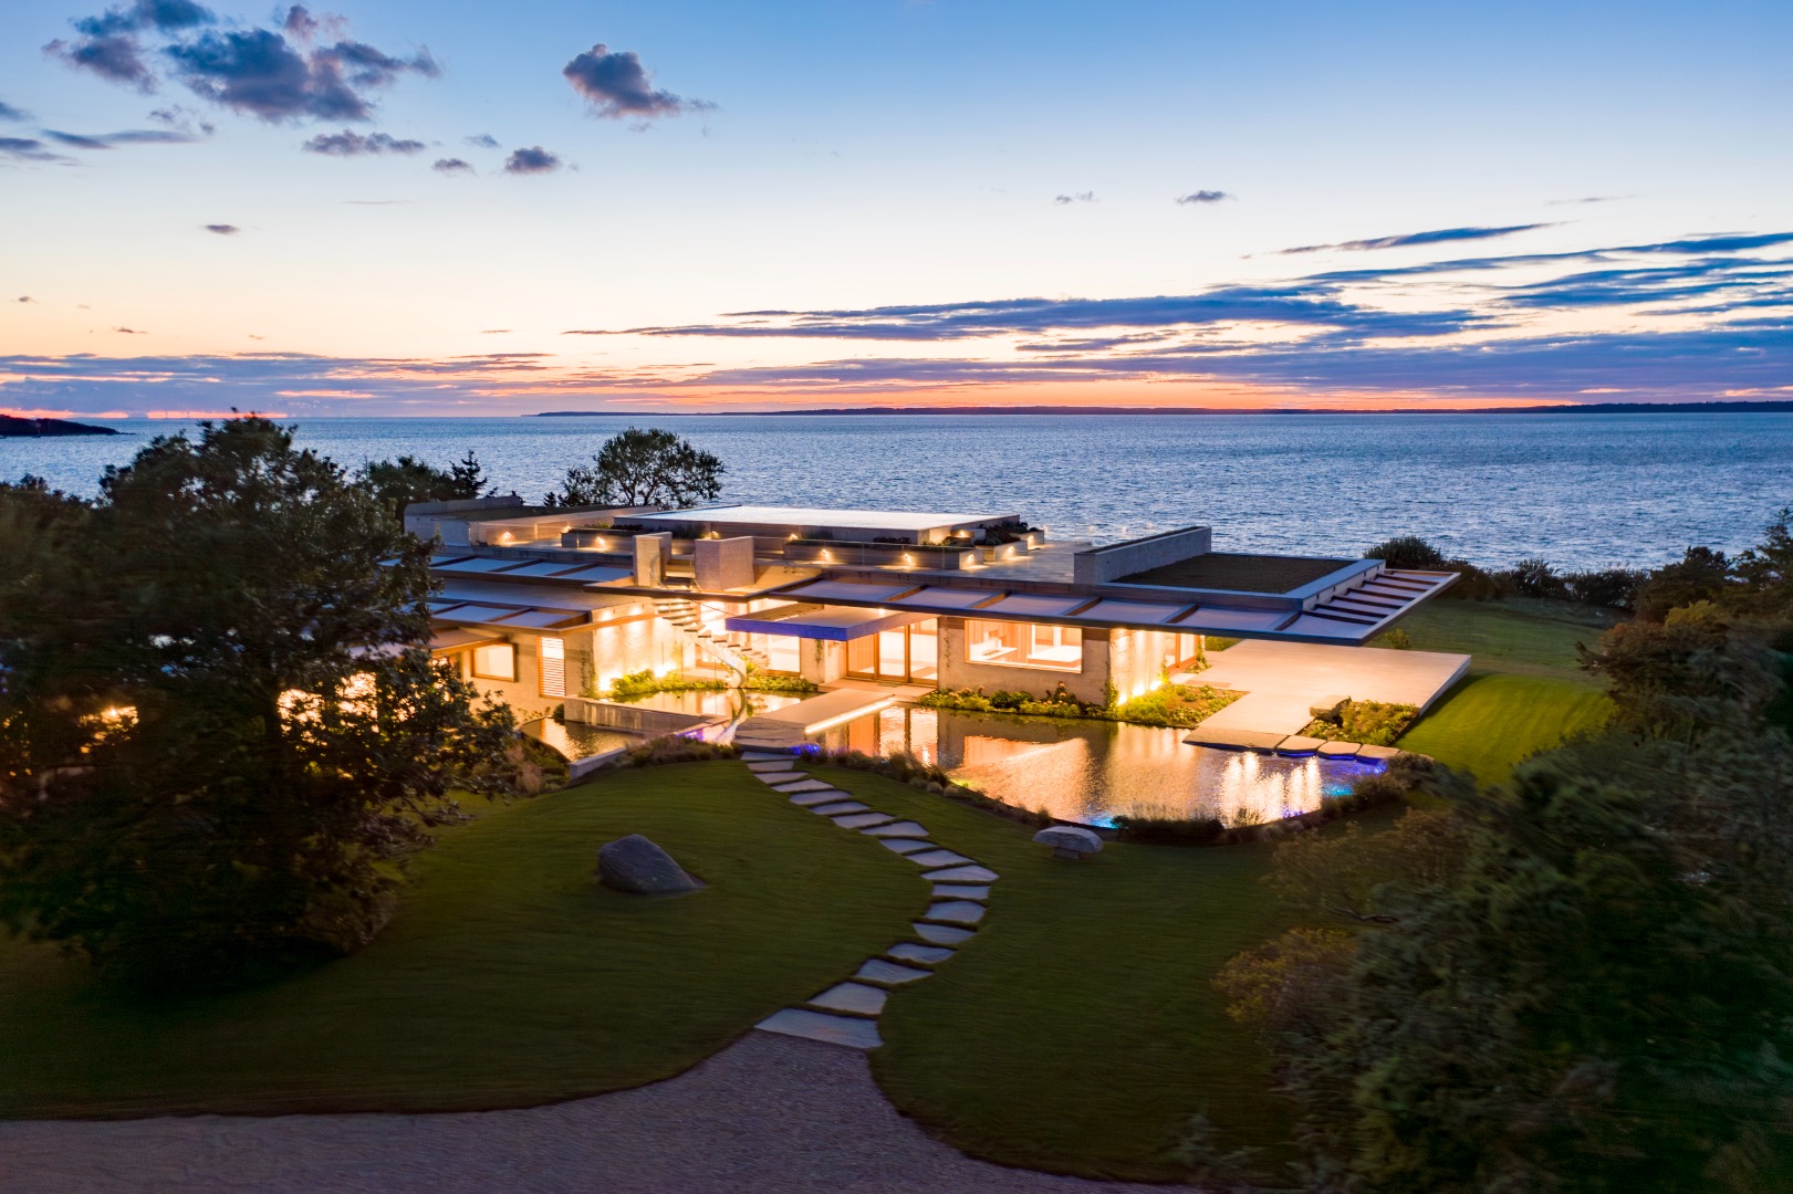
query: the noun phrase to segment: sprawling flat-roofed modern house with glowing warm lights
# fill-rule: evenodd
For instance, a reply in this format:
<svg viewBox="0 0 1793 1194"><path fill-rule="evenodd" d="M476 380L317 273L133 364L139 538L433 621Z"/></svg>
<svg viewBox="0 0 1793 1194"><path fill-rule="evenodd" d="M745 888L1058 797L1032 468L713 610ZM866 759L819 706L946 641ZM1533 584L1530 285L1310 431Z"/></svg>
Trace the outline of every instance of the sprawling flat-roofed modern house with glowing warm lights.
<svg viewBox="0 0 1793 1194"><path fill-rule="evenodd" d="M525 715L633 672L1130 697L1207 636L1354 647L1456 577L1212 550L1208 527L1056 541L1015 513L427 502L434 651Z"/></svg>

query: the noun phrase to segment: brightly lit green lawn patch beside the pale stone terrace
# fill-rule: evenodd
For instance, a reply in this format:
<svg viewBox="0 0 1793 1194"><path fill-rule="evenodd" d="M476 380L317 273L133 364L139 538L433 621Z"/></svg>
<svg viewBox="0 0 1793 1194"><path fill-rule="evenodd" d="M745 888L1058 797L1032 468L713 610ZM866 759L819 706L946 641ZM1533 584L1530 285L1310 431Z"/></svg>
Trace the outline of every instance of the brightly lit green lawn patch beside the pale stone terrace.
<svg viewBox="0 0 1793 1194"><path fill-rule="evenodd" d="M1594 730L1612 715L1605 692L1542 676L1470 676L1409 730L1402 749L1431 755L1483 783L1513 764Z"/></svg>

